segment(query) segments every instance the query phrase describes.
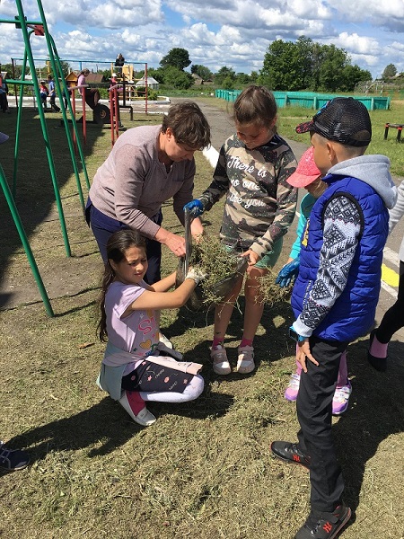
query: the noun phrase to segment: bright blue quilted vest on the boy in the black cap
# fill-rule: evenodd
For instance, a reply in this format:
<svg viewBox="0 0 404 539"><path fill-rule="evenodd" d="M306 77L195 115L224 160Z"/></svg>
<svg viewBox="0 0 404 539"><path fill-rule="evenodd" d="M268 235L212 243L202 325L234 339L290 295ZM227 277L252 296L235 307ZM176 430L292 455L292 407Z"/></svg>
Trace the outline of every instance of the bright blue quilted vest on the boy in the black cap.
<svg viewBox="0 0 404 539"><path fill-rule="evenodd" d="M319 268L324 209L336 193L344 193L356 201L362 214L361 236L347 286L312 334L325 340L351 341L369 331L374 322L381 288L382 254L389 231L389 212L382 198L364 181L332 174L324 181L329 183L329 188L312 208L302 235L299 275L291 304L297 318L302 313L304 299L312 289Z"/></svg>

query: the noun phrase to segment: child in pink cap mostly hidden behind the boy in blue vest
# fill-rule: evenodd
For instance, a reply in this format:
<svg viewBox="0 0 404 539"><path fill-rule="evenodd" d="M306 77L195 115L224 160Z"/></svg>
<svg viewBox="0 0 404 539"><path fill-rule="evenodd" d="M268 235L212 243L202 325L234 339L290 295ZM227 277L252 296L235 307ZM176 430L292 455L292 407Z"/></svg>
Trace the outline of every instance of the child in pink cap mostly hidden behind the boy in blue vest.
<svg viewBox="0 0 404 539"><path fill-rule="evenodd" d="M297 224L296 239L292 246L289 260L282 270L279 271L277 276L276 282L281 287L289 286L299 272L301 244L306 240L303 232L307 228L307 221L310 219L310 213L314 203L327 189L327 183L321 181L321 172L316 163L314 163L313 151L314 148L310 146L309 149L304 152L301 160L297 164L296 172L287 179L287 182L293 187L303 187L308 193L303 197L300 203L300 217L299 223ZM294 402L297 399L301 373L302 366L296 359L296 371L291 376L290 382L285 390L286 401ZM351 393L352 386L347 377L347 350L344 350L339 363L337 386L332 398L333 415L340 415L341 413L344 413L344 411L347 411Z"/></svg>

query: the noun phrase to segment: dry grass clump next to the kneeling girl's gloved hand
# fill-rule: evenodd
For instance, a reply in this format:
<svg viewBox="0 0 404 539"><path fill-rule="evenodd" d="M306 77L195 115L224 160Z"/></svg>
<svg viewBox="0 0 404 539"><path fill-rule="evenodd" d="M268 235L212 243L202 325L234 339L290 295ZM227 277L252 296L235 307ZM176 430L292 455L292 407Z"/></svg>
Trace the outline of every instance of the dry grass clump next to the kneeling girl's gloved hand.
<svg viewBox="0 0 404 539"><path fill-rule="evenodd" d="M229 252L216 237L204 235L199 243L192 245L189 265L198 265L206 273L200 283L205 305L217 304L223 299L218 295L217 284L233 277L239 261L237 252Z"/></svg>

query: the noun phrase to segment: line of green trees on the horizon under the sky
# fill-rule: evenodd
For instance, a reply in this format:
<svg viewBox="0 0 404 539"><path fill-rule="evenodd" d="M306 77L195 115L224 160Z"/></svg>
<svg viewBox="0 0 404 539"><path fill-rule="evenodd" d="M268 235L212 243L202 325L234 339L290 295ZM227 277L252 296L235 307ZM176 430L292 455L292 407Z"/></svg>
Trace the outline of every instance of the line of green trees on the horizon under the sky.
<svg viewBox="0 0 404 539"><path fill-rule="evenodd" d="M264 84L273 91L307 90L313 92L352 92L356 84L372 81L369 71L353 65L347 51L335 45L321 45L301 36L296 41L275 40L267 49L263 66L250 75L235 73L224 66L213 74L208 67L191 64L187 49L171 49L162 57L160 67L148 74L161 84L189 88L194 84L192 74L203 80L213 80L224 89L237 89L245 84Z"/></svg>

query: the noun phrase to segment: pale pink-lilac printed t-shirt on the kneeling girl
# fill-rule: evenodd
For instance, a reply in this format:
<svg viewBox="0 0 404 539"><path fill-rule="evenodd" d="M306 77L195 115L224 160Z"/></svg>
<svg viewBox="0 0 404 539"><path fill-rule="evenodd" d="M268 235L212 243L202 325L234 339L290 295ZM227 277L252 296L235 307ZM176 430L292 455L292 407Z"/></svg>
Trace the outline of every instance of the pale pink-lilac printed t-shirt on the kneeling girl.
<svg viewBox="0 0 404 539"><path fill-rule="evenodd" d="M159 343L159 311L134 311L122 317L127 306L145 292L145 283L124 285L119 281L110 284L105 296L108 340L117 348L145 358Z"/></svg>

